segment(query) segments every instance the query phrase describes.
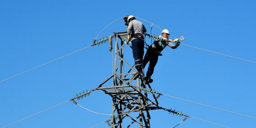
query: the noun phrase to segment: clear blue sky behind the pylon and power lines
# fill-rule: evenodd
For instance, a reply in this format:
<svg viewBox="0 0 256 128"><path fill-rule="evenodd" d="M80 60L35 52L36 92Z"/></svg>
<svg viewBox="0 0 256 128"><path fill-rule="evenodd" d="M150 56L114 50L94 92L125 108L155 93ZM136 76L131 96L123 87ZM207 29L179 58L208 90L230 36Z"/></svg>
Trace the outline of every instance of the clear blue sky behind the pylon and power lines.
<svg viewBox="0 0 256 128"><path fill-rule="evenodd" d="M133 15L169 29L172 39L185 37L184 45L164 49L151 84L155 91L171 96L161 96L159 106L197 118L188 118L176 128L221 128L204 121L252 128L256 126L255 6L254 0L1 0L0 81L90 46L108 24ZM150 33L151 24L138 20ZM120 19L97 39L125 30ZM153 26L152 34L160 33ZM125 51L125 57L133 63L131 50ZM92 90L111 74L112 52L105 43L2 81L0 128ZM91 111L111 114L112 99L100 90L77 102ZM94 112L66 102L8 128L90 128L110 119ZM150 115L152 128L173 128L183 119L163 110ZM104 123L95 128L108 127Z"/></svg>

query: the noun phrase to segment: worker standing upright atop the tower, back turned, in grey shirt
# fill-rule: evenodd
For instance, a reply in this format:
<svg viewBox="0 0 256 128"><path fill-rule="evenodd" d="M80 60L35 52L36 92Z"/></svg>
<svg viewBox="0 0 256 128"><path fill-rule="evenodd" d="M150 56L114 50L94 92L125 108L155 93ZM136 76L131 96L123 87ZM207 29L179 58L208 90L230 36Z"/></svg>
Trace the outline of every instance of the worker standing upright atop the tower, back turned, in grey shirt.
<svg viewBox="0 0 256 128"><path fill-rule="evenodd" d="M142 60L144 55L144 36L143 33L147 32L144 24L137 21L134 16L128 17L128 27L127 27L127 39L131 40L131 48L133 53L133 58L135 61L136 71L133 75L138 73L143 73Z"/></svg>

